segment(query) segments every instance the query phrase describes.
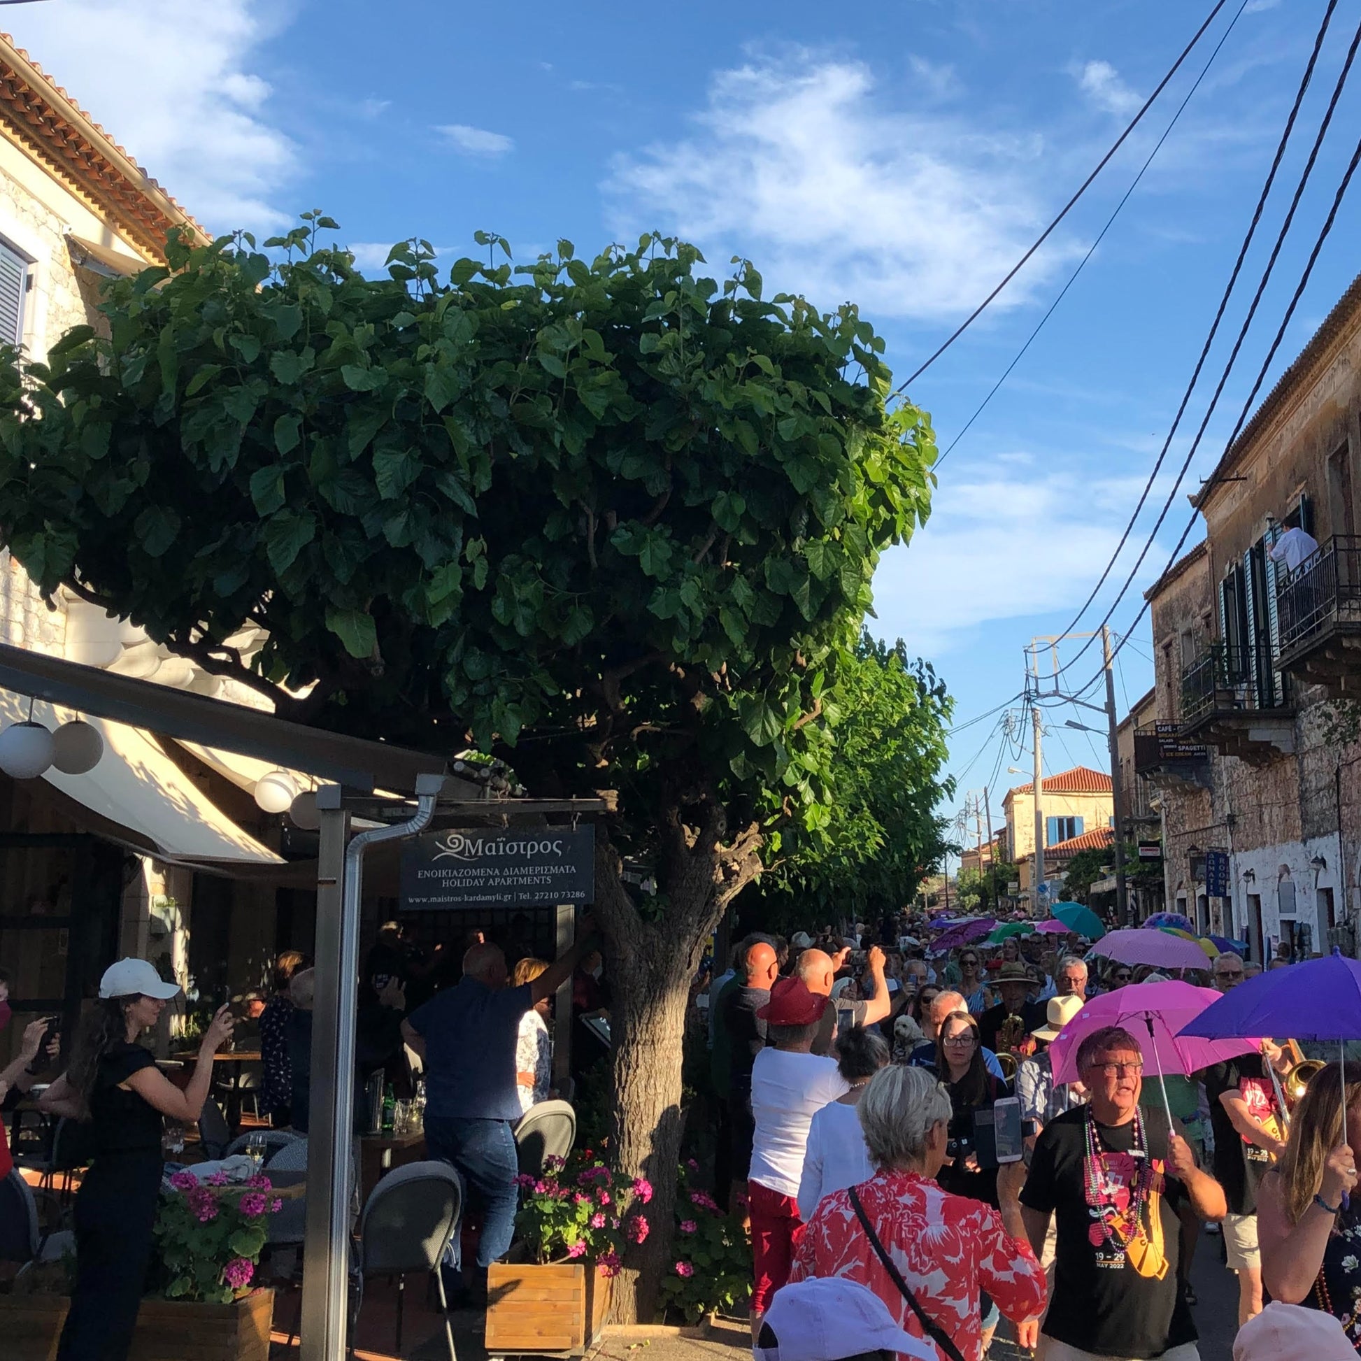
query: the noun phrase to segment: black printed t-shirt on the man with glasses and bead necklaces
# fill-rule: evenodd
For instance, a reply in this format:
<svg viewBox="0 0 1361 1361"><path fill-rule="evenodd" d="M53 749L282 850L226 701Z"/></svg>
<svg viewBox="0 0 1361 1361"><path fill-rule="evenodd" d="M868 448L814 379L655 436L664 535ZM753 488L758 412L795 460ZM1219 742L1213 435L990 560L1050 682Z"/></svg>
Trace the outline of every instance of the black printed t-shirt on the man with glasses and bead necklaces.
<svg viewBox="0 0 1361 1361"><path fill-rule="evenodd" d="M1177 1289L1176 1206L1185 1191L1165 1177L1168 1121L1161 1111L1142 1112L1153 1184L1131 1224L1131 1187L1143 1162L1135 1153L1135 1123L1097 1124L1101 1149L1097 1192L1113 1230L1087 1204L1085 1123L1087 1108L1051 1120L1036 1142L1021 1203L1052 1213L1057 1229L1053 1297L1044 1334L1081 1351L1105 1357L1158 1357L1195 1342L1195 1323ZM1127 1244L1127 1245L1121 1245Z"/></svg>

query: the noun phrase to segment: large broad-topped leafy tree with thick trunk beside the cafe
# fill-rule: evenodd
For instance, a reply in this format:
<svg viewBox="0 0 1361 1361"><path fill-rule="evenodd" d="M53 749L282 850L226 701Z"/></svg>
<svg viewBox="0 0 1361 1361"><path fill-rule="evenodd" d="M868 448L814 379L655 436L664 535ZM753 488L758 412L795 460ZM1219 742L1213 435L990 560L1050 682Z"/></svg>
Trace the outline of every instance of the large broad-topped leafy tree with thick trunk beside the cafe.
<svg viewBox="0 0 1361 1361"><path fill-rule="evenodd" d="M48 596L283 717L607 791L615 1151L657 1179L702 943L783 836L830 825L825 712L879 554L928 513L930 422L852 305L768 298L746 261L719 279L649 234L516 267L480 233L446 280L421 241L367 279L332 230L171 235L110 282L108 336L0 365L0 535ZM666 1237L623 1313L653 1312Z"/></svg>

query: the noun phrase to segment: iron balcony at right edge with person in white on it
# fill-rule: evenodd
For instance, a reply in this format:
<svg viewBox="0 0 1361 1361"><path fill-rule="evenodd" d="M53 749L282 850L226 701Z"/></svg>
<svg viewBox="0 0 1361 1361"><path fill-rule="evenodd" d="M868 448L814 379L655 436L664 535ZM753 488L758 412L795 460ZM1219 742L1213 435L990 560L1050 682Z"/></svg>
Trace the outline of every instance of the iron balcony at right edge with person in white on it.
<svg viewBox="0 0 1361 1361"><path fill-rule="evenodd" d="M1277 591L1279 668L1330 700L1361 694L1361 535L1323 543Z"/></svg>

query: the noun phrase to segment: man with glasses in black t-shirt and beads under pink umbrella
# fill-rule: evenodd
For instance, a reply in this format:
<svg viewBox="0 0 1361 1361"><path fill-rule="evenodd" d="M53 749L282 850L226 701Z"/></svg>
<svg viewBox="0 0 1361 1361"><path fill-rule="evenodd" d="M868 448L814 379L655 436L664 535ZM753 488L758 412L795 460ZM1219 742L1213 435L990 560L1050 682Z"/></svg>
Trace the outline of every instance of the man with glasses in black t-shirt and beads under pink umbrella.
<svg viewBox="0 0 1361 1361"><path fill-rule="evenodd" d="M1224 1190L1160 1108L1141 1111L1143 1053L1128 1030L1089 1034L1077 1066L1089 1101L1044 1127L1021 1192L1036 1252L1051 1217L1057 1229L1041 1361L1199 1361L1177 1286L1176 1207L1190 1199L1200 1218L1222 1219Z"/></svg>

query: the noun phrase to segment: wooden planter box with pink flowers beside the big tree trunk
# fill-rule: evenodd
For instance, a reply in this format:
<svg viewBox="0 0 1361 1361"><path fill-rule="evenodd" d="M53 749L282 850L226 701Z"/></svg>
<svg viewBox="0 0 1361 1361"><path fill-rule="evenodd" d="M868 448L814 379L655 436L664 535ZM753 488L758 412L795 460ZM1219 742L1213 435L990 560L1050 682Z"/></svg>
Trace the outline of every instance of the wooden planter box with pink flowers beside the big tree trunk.
<svg viewBox="0 0 1361 1361"><path fill-rule="evenodd" d="M610 1278L593 1264L493 1262L487 1268L489 1356L584 1354L600 1337L610 1290Z"/></svg>

